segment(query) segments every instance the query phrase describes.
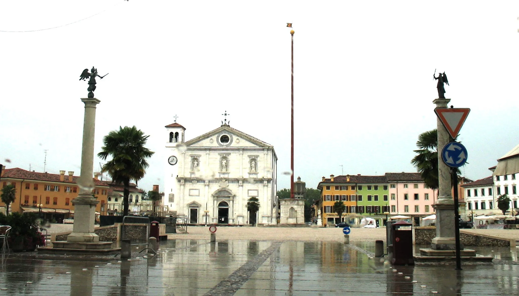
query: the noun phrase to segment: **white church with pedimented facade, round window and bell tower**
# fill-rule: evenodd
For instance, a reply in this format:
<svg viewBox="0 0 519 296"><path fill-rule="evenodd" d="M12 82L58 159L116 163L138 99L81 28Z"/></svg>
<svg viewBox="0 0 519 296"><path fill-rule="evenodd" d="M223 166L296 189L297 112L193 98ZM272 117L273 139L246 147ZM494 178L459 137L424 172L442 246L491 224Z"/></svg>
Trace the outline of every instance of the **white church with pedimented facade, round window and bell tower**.
<svg viewBox="0 0 519 296"><path fill-rule="evenodd" d="M162 204L190 224L277 224L277 156L274 147L231 128L184 141L184 126L166 125L168 158ZM250 217L247 200L260 210Z"/></svg>

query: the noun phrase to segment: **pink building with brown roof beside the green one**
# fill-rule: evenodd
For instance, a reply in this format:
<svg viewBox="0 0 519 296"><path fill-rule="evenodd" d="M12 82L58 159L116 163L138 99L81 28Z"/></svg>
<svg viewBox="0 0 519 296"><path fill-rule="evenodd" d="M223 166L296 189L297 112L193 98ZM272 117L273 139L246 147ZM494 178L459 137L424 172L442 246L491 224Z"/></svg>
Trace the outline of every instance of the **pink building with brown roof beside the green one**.
<svg viewBox="0 0 519 296"><path fill-rule="evenodd" d="M422 225L422 218L435 214L435 191L425 185L420 173L386 173L386 178L391 216L408 216L415 225Z"/></svg>

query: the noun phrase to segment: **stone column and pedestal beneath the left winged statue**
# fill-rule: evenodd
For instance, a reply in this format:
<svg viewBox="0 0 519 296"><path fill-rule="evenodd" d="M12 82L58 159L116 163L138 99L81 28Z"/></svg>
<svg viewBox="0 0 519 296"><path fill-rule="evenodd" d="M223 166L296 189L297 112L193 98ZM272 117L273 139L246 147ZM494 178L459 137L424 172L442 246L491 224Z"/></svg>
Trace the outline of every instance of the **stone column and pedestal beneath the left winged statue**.
<svg viewBox="0 0 519 296"><path fill-rule="evenodd" d="M85 119L83 122L83 148L81 149L81 175L77 181L79 193L72 200L74 205L74 228L67 237L67 242L97 243L99 236L94 233L95 205L99 203L92 194L94 167L94 132L95 105L97 98L81 98L85 103Z"/></svg>

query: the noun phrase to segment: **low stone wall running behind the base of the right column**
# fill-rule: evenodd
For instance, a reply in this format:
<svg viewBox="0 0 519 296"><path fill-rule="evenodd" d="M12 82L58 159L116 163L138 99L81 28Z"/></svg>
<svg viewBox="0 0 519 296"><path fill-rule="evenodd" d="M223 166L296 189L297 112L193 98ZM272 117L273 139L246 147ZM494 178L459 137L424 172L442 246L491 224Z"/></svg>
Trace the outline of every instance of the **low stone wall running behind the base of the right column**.
<svg viewBox="0 0 519 296"><path fill-rule="evenodd" d="M421 226L413 228L413 243L415 245L430 245L436 236L436 227ZM515 247L514 239L476 234L468 231L459 231L459 238L464 246L506 246Z"/></svg>

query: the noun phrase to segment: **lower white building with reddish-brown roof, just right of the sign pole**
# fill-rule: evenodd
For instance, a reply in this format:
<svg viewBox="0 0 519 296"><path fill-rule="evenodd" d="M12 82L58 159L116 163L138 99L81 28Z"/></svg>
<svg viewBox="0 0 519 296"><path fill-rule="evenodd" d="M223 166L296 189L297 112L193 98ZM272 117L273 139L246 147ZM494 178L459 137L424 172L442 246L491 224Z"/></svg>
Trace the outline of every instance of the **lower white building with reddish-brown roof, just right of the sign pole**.
<svg viewBox="0 0 519 296"><path fill-rule="evenodd" d="M486 177L460 186L465 190L466 217L463 220L472 220L474 216L499 214L497 198L494 192L493 177ZM483 223L483 221L480 221Z"/></svg>

